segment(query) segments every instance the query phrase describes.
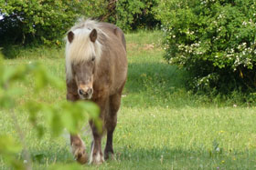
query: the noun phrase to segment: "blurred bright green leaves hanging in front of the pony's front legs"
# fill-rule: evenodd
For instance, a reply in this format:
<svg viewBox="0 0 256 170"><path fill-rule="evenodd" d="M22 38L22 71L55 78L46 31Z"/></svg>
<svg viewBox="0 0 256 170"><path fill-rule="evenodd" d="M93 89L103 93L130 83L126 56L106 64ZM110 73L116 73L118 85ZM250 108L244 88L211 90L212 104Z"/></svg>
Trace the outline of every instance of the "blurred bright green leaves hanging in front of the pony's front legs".
<svg viewBox="0 0 256 170"><path fill-rule="evenodd" d="M97 119L100 109L91 102L62 102L56 105L46 105L30 101L27 102L26 107L29 112L29 121L37 129L38 137L44 135L45 129L37 118L39 112L45 113L53 136L61 135L64 128L71 134L77 134L89 119L94 120L97 127L101 129L101 122Z"/></svg>

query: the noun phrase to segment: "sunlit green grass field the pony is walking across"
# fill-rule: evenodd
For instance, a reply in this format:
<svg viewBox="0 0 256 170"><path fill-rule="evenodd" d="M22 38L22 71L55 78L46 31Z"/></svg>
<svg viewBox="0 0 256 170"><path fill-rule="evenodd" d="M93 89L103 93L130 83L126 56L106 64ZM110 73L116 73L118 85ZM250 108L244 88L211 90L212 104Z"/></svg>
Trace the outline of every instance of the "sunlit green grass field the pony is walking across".
<svg viewBox="0 0 256 170"><path fill-rule="evenodd" d="M84 168L256 169L256 107L233 99L220 103L187 92L186 73L163 60L161 36L158 31L126 35L129 71L113 139L116 160ZM23 50L19 57L5 62L16 66L34 61L65 79L63 50ZM0 111L0 134L17 136L15 125L21 126L31 157L42 157L40 161L34 159L33 169L73 163L67 136L52 139L48 134L39 140L27 122L22 104L35 97L30 81L30 86L20 85L26 95L17 99L18 121L14 123L7 111ZM38 102L62 100L65 89L48 87L37 95ZM83 133L82 137L89 150L91 135ZM22 155L18 157L22 159ZM1 159L0 169L8 169Z"/></svg>

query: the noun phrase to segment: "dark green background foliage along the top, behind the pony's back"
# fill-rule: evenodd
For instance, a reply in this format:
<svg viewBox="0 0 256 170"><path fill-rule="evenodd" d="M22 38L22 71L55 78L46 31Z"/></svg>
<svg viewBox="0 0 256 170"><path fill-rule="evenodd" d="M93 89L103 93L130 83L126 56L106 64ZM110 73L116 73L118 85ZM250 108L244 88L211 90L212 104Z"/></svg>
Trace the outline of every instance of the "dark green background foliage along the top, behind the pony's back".
<svg viewBox="0 0 256 170"><path fill-rule="evenodd" d="M158 0L0 0L0 44L61 45L80 17L98 18L124 31L154 27Z"/></svg>

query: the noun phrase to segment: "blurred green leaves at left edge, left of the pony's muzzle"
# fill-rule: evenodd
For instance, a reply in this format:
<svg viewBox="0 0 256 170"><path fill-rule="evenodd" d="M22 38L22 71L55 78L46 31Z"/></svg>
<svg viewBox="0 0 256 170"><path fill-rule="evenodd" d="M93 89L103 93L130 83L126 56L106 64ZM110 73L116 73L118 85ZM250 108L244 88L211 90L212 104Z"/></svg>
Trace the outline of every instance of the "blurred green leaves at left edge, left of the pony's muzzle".
<svg viewBox="0 0 256 170"><path fill-rule="evenodd" d="M38 63L18 65L13 69L6 67L2 61L0 63L0 71L0 105L9 109L16 105L16 96L23 95L23 89L16 87L16 82L26 82L26 75L28 74L32 74L35 77L35 93L45 88L48 84L59 88L64 86L63 82L49 75L44 66Z"/></svg>

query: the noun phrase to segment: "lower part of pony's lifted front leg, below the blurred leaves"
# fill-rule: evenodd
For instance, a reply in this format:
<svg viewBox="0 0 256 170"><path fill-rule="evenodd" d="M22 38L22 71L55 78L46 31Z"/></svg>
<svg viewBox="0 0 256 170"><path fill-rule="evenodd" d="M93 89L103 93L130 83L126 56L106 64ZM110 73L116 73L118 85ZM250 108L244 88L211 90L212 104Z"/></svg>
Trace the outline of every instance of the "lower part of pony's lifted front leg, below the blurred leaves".
<svg viewBox="0 0 256 170"><path fill-rule="evenodd" d="M70 144L72 154L80 164L86 164L88 162L88 155L85 152L85 145L80 138L80 135L70 135Z"/></svg>

